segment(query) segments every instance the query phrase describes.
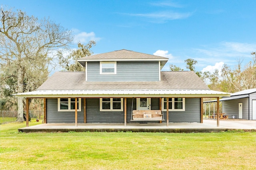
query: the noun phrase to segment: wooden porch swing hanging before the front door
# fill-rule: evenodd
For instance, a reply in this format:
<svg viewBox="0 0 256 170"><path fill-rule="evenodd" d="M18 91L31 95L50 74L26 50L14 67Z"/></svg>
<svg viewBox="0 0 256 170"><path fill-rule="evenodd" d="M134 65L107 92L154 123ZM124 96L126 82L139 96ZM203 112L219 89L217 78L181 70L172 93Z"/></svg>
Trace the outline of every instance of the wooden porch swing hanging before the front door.
<svg viewBox="0 0 256 170"><path fill-rule="evenodd" d="M132 98L132 114L131 121L164 121L164 114L161 110L133 110Z"/></svg>

